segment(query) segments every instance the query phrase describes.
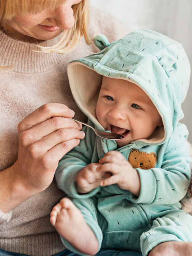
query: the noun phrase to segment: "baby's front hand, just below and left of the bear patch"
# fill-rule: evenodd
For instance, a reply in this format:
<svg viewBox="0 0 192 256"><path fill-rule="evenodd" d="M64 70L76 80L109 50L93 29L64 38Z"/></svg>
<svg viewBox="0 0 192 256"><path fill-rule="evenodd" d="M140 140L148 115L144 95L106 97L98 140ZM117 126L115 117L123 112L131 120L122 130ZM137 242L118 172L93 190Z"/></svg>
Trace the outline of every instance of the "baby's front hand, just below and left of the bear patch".
<svg viewBox="0 0 192 256"><path fill-rule="evenodd" d="M139 175L125 157L118 151L110 151L99 160L98 172L110 172L112 176L101 181L101 186L118 184L121 189L132 190L139 180ZM135 190L135 188L134 188ZM140 190L140 187L139 187ZM134 193L135 194L135 193ZM137 193L136 193L137 194Z"/></svg>

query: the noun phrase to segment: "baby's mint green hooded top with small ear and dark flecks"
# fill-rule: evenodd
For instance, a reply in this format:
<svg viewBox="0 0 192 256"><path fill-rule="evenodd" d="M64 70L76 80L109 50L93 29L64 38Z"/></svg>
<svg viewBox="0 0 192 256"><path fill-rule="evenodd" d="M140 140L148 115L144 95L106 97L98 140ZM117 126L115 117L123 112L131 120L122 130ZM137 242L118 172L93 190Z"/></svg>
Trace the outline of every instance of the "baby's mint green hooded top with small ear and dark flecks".
<svg viewBox="0 0 192 256"><path fill-rule="evenodd" d="M85 138L81 140L79 146L62 158L56 171L56 181L58 187L72 198L86 199L95 195L98 198L98 210L103 216L107 216L106 212L113 208L114 200L117 202L119 196L118 205L121 205L126 198L133 207L134 205L137 209L140 207L143 212L141 215L144 219L146 218L144 216L147 216L150 222L160 217L158 214L163 212L163 205L164 211L166 208L179 209L178 202L186 194L190 183L191 159L186 141L188 130L185 125L179 123L183 118L181 103L189 87L189 60L180 43L151 30L138 30L113 43L109 43L105 36L98 35L94 43L101 52L68 65L73 97L80 109L88 116L89 124L96 129L104 130L95 117L95 107L102 76L108 76L133 82L143 89L159 111L163 127L155 129L150 138L132 141L121 148L117 148L115 141L98 138L90 128L83 127ZM97 163L110 150L121 152L127 160L131 158L131 154L142 152L145 153L143 156L146 158L155 153L155 166L136 168L141 181L138 198L129 191L120 189L116 184L99 187L83 195L77 193L76 173L90 163ZM103 197L105 197L104 202L99 199ZM131 210L130 214L132 214ZM125 214L130 216L128 209ZM108 215L109 217L105 218L109 225L114 216L110 219L110 214ZM189 233L186 234L188 234L186 237L189 237ZM106 238L108 241L110 239ZM135 239L134 237L133 241L136 241ZM154 246L159 243L159 239L166 241L158 236L157 241L153 243ZM169 239L173 238L169 237ZM176 236L173 240L185 239ZM106 243L108 242L105 241L104 245L107 247ZM147 255L150 246L149 243L146 244L146 238L141 241L144 255ZM131 248L139 250L136 247L135 242Z"/></svg>

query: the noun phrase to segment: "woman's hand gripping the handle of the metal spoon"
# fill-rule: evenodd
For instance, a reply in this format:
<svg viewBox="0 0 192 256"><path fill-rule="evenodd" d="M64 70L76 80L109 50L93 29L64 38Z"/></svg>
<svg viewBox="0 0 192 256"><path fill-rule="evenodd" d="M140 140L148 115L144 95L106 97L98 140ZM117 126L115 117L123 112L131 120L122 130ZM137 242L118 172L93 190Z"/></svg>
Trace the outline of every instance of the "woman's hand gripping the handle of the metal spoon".
<svg viewBox="0 0 192 256"><path fill-rule="evenodd" d="M19 153L13 170L31 196L51 184L60 159L84 138L82 125L69 119L73 116L65 105L48 103L19 123Z"/></svg>

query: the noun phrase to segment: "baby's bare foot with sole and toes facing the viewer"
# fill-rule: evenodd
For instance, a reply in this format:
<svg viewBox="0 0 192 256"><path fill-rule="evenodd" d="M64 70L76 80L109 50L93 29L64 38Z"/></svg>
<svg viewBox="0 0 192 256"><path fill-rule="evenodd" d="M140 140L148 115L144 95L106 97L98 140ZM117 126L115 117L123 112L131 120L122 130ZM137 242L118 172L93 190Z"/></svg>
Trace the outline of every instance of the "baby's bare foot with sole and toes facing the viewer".
<svg viewBox="0 0 192 256"><path fill-rule="evenodd" d="M81 211L72 201L63 198L50 214L50 222L57 232L81 253L94 255L99 243L92 229L84 221Z"/></svg>

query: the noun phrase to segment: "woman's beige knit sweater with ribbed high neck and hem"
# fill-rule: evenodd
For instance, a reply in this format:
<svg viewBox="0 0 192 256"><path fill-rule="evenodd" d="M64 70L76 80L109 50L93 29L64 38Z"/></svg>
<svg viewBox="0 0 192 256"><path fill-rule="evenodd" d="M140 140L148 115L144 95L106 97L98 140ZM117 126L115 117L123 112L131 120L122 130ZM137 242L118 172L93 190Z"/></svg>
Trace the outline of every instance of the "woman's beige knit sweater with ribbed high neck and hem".
<svg viewBox="0 0 192 256"><path fill-rule="evenodd" d="M102 33L112 41L130 32L124 28L110 15L92 10L91 37ZM40 45L52 46L57 41L58 38L54 38ZM14 40L0 31L0 66L14 65L10 71L0 71L0 170L17 159L18 123L41 105L63 103L76 112L77 118L85 118L72 98L66 67L69 61L89 55L86 50L96 48L88 47L82 39L79 46L66 55L34 53L33 50L39 50L36 44ZM63 196L53 181L45 191L11 212L0 212L0 248L31 256L49 256L64 250L60 237L49 223L53 206Z"/></svg>

